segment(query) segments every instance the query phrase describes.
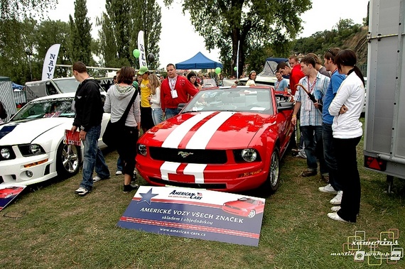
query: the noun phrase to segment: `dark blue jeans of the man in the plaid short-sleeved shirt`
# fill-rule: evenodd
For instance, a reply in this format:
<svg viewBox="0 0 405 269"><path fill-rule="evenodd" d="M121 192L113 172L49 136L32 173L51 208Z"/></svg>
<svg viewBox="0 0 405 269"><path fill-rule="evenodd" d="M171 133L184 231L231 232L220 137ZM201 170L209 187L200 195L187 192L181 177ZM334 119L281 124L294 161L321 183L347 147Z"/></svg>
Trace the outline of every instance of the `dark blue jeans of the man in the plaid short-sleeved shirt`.
<svg viewBox="0 0 405 269"><path fill-rule="evenodd" d="M301 126L301 132L303 134L303 141L305 144L306 164L308 170L316 171L319 160L320 174L328 173L328 168L325 165L325 159L323 158L323 142L322 142L322 126Z"/></svg>

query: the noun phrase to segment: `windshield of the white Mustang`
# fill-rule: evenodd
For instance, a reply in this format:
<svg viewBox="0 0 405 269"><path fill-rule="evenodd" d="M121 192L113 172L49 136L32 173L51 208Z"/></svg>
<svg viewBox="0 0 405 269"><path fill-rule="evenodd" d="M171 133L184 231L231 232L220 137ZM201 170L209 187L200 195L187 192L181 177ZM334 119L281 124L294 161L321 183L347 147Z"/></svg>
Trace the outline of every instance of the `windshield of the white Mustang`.
<svg viewBox="0 0 405 269"><path fill-rule="evenodd" d="M55 117L73 118L75 111L72 110L72 101L73 97L31 101L20 109L11 121Z"/></svg>

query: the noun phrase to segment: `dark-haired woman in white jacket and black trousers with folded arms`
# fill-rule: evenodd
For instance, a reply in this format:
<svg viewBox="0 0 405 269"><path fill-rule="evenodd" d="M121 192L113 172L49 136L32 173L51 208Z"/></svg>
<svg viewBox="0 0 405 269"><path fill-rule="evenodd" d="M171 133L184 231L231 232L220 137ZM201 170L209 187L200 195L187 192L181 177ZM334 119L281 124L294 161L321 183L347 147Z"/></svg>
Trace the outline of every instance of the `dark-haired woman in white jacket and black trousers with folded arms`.
<svg viewBox="0 0 405 269"><path fill-rule="evenodd" d="M342 202L332 207L330 219L356 222L360 211L360 175L357 170L356 146L362 138L362 123L359 121L365 101L365 79L356 66L357 57L352 50L341 50L335 57L340 74L347 77L329 106L333 119L333 143L335 143L338 175L342 180Z"/></svg>

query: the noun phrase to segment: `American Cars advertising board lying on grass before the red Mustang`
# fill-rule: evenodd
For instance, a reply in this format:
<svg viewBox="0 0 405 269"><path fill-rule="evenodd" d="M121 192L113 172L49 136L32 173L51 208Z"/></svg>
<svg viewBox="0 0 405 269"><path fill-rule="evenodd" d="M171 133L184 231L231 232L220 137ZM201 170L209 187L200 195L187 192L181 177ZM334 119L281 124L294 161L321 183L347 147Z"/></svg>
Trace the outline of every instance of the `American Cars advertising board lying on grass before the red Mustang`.
<svg viewBox="0 0 405 269"><path fill-rule="evenodd" d="M265 200L181 187L141 186L117 226L258 246Z"/></svg>

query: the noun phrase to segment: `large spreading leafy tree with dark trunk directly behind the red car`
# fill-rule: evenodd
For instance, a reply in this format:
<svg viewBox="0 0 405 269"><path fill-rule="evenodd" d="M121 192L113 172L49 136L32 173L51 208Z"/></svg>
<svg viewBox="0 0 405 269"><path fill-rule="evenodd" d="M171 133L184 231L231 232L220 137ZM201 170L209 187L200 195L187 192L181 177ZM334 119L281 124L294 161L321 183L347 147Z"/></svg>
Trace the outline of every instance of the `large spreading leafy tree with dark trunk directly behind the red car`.
<svg viewBox="0 0 405 269"><path fill-rule="evenodd" d="M173 0L164 2L170 5ZM222 62L232 63L226 67L229 72L236 65L239 44L239 74L247 62L247 55L254 50L270 47L276 38L295 38L301 31L299 14L308 9L311 9L310 0L183 1L183 12L190 12L191 23L205 39L207 50L219 48Z"/></svg>

